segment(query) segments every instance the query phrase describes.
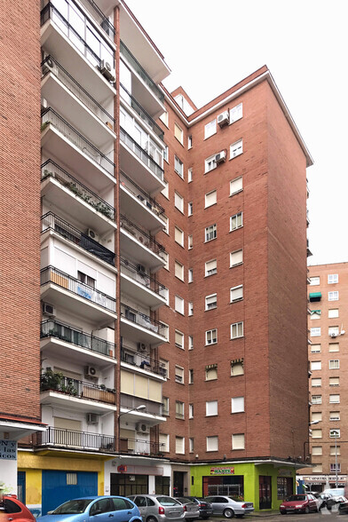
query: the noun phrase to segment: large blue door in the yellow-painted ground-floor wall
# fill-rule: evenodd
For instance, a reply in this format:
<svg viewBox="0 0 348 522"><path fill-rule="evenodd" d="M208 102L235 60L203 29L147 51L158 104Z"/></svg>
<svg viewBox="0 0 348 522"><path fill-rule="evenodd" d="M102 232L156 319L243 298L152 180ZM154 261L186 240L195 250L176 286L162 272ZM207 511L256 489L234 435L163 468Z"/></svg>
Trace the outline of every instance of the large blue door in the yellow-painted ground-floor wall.
<svg viewBox="0 0 348 522"><path fill-rule="evenodd" d="M95 494L98 494L97 472L43 471L43 515L63 502Z"/></svg>

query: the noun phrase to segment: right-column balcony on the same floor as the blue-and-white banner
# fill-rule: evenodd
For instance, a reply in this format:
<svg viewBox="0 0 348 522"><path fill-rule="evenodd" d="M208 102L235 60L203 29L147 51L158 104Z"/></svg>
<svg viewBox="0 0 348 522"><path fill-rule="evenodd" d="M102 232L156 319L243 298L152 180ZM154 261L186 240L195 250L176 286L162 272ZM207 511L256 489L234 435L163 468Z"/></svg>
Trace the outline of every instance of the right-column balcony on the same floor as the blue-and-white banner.
<svg viewBox="0 0 348 522"><path fill-rule="evenodd" d="M154 346L167 342L164 332L162 322L121 303L121 335L124 338Z"/></svg>

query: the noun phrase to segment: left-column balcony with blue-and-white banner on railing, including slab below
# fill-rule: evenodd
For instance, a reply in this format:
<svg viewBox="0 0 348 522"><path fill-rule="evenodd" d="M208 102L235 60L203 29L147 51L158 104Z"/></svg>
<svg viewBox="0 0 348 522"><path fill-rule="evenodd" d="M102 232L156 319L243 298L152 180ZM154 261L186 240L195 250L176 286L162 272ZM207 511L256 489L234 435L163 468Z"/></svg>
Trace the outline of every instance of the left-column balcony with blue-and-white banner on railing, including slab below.
<svg viewBox="0 0 348 522"><path fill-rule="evenodd" d="M41 271L41 297L66 312L78 312L96 324L116 319L115 297L107 296L53 266L46 266Z"/></svg>

